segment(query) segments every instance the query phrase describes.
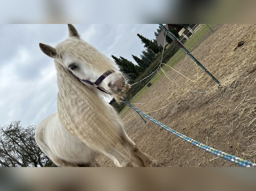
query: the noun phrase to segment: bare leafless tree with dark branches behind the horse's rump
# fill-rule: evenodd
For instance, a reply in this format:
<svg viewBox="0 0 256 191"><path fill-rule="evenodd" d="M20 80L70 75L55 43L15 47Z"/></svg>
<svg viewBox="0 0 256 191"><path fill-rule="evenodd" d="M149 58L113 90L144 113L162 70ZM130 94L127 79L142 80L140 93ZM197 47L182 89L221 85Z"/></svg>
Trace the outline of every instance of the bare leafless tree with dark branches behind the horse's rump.
<svg viewBox="0 0 256 191"><path fill-rule="evenodd" d="M0 126L0 167L45 166L49 158L35 141L35 129L22 127L20 121Z"/></svg>

